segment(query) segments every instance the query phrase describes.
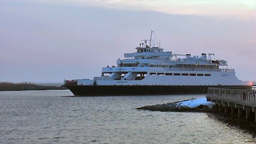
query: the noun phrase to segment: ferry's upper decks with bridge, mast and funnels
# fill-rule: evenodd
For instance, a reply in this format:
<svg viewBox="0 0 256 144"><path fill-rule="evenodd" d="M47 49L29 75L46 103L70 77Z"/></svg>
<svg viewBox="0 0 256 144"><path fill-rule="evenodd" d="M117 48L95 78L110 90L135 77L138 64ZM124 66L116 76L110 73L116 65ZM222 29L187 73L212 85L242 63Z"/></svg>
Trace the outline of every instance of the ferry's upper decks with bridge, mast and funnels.
<svg viewBox="0 0 256 144"><path fill-rule="evenodd" d="M153 31L151 31L152 36ZM150 40L142 40L144 43L140 43L136 47L136 52L125 53L125 59L117 60L118 67L158 67L157 65L188 65L187 67L192 67L190 65L199 65L199 67L207 66L227 66L226 60L216 60L214 54L209 53L206 55L202 53L200 56L191 54L174 54L170 51L164 52L160 46L155 47L151 45ZM149 45L147 44L149 41ZM160 45L160 44L159 44ZM174 66L175 67L175 66Z"/></svg>

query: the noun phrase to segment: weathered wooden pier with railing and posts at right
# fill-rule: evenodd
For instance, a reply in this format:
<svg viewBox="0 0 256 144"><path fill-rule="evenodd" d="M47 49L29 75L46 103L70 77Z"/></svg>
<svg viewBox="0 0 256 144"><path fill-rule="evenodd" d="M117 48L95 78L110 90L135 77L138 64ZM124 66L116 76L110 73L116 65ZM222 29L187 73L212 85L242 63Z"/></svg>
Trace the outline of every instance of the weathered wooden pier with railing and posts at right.
<svg viewBox="0 0 256 144"><path fill-rule="evenodd" d="M215 108L220 112L245 116L246 119L254 117L256 122L256 91L209 88L206 98L215 102Z"/></svg>

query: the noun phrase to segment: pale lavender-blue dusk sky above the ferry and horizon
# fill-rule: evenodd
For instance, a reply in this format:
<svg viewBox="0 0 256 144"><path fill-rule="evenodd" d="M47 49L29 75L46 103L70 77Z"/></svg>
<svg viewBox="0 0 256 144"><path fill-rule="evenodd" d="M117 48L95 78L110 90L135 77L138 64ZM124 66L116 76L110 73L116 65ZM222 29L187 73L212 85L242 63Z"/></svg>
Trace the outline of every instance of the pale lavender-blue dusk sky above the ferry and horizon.
<svg viewBox="0 0 256 144"><path fill-rule="evenodd" d="M165 51L215 53L256 81L256 1L0 0L0 82L100 76L151 29Z"/></svg>

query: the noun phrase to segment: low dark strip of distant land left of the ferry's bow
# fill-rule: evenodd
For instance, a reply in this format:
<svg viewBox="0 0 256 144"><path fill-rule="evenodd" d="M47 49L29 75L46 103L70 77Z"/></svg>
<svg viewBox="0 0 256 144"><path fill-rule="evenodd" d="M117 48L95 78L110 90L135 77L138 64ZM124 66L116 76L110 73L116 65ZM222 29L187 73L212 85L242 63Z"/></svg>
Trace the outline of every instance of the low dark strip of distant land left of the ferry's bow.
<svg viewBox="0 0 256 144"><path fill-rule="evenodd" d="M0 91L29 91L29 90L67 90L63 86L45 86L33 83L0 83Z"/></svg>

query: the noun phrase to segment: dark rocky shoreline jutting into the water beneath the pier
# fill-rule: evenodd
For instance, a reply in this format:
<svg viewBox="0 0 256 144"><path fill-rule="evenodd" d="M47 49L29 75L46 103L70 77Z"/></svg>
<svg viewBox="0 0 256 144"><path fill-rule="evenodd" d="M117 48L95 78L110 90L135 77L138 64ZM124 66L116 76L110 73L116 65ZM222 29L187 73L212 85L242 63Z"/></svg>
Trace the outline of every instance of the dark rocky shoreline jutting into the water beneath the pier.
<svg viewBox="0 0 256 144"><path fill-rule="evenodd" d="M193 101L193 100L186 100L186 101ZM254 118L246 119L246 118L239 118L237 115L231 115L229 113L220 113L218 110L215 109L215 105L212 107L207 105L198 105L197 107L188 107L188 106L180 106L179 103L185 101L178 101L178 102L170 102L164 103L162 105L154 105L154 106L144 106L136 108L138 110L150 110L150 111L177 111L177 112L198 112L198 113L207 113L211 115L211 118L218 119L223 123L227 123L232 126L237 126L243 130L248 130L251 133L256 135L256 123Z"/></svg>

